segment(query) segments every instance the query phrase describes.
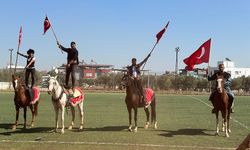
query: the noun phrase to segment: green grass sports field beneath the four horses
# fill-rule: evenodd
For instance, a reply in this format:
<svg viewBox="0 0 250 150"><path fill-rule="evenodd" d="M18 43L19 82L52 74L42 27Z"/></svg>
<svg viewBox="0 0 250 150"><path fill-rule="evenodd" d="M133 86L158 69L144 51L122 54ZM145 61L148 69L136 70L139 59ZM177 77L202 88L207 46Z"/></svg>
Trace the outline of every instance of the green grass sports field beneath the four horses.
<svg viewBox="0 0 250 150"><path fill-rule="evenodd" d="M214 136L215 116L208 95L157 94L158 129L145 130L145 113L139 110L137 133L128 132L124 93L86 93L84 130L64 134L51 132L54 110L47 93L42 93L34 128L11 130L15 121L13 93L0 93L0 149L235 149L250 132L250 97L236 97L229 138ZM22 111L21 111L22 112ZM19 123L23 123L23 113ZM28 121L31 113L28 110ZM71 115L65 116L65 125ZM79 118L76 119L79 127Z"/></svg>

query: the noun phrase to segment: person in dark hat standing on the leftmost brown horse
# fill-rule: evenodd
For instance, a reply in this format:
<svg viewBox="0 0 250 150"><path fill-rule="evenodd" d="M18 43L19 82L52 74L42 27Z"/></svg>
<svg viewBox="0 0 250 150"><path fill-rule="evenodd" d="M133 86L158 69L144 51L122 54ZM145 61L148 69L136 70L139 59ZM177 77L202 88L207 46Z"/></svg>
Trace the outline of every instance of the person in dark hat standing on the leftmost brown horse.
<svg viewBox="0 0 250 150"><path fill-rule="evenodd" d="M35 51L33 49L29 49L27 51L28 55L24 55L20 52L17 52L17 54L19 54L20 56L23 56L25 58L27 58L27 64L25 66L25 85L26 88L29 90L29 96L31 101L33 100L33 92L32 92L32 88L34 87L35 84L35 61L36 61L36 57L34 56ZM29 88L29 76L31 74L31 87Z"/></svg>

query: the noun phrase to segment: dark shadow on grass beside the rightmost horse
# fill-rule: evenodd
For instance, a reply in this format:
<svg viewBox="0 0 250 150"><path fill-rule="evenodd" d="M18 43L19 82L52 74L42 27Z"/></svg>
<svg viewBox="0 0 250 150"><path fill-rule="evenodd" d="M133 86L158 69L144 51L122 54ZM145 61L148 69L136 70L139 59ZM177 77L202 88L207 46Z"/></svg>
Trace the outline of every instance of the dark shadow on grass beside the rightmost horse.
<svg viewBox="0 0 250 150"><path fill-rule="evenodd" d="M174 137L176 135L206 135L206 136L214 136L214 134L208 134L206 131L211 131L207 129L178 129L177 131L171 131L171 130L161 130L165 133L159 134L160 136L165 136L165 137Z"/></svg>

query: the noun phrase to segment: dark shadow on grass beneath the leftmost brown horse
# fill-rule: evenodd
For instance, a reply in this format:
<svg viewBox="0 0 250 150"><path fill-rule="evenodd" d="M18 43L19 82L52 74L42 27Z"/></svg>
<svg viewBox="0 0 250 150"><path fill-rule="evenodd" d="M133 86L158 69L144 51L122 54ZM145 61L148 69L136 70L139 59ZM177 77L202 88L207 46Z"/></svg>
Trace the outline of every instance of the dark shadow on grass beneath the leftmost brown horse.
<svg viewBox="0 0 250 150"><path fill-rule="evenodd" d="M54 128L52 127L33 127L26 129L23 128L23 124L19 124L16 130L12 130L13 124L0 124L0 129L6 129L7 132L1 132L0 135L10 136L11 134L20 134L20 133L45 133L50 132Z"/></svg>

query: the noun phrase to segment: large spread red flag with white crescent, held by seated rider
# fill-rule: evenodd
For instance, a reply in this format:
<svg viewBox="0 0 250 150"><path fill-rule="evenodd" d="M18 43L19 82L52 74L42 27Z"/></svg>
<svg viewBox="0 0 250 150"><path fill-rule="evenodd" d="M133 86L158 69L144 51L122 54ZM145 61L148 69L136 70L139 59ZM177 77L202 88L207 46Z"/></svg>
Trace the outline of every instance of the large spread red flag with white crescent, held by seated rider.
<svg viewBox="0 0 250 150"><path fill-rule="evenodd" d="M193 70L194 65L208 63L210 56L211 39L203 43L192 55L185 58L183 62L187 65L186 70Z"/></svg>

